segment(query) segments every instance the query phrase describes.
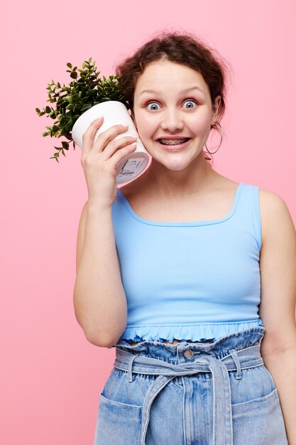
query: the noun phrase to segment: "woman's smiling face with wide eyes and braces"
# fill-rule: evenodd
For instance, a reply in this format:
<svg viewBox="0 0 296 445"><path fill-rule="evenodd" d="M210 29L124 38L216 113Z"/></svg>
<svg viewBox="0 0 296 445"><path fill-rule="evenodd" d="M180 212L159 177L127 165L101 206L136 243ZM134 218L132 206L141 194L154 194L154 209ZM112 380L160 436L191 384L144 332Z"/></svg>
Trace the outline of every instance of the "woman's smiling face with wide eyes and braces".
<svg viewBox="0 0 296 445"><path fill-rule="evenodd" d="M209 87L200 73L159 60L138 77L132 117L153 159L171 170L182 170L199 154L204 159L202 150L216 122L219 102L218 96L212 107ZM190 140L180 146L158 141L172 136Z"/></svg>

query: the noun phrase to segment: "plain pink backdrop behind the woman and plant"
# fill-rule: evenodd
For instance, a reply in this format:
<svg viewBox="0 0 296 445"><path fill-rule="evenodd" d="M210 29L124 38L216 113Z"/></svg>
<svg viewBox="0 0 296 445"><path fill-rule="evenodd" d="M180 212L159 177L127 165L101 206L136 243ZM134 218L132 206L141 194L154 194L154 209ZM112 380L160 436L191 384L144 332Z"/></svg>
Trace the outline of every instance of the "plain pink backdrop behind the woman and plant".
<svg viewBox="0 0 296 445"><path fill-rule="evenodd" d="M214 168L278 193L296 220L293 0L6 2L1 42L1 413L5 445L92 445L114 350L87 342L72 304L87 187L80 149L58 164L43 138L51 79L89 57L102 74L163 28L192 31L229 60ZM51 119L50 119L51 120Z"/></svg>

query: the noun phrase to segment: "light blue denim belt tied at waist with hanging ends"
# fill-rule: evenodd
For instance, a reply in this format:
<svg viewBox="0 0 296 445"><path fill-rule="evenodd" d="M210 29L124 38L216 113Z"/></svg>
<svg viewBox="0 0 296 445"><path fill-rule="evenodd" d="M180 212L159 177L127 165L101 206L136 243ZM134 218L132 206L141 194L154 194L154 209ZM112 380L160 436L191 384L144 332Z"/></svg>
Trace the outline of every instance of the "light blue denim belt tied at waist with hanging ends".
<svg viewBox="0 0 296 445"><path fill-rule="evenodd" d="M198 372L212 372L213 445L233 445L231 387L228 372L236 370L236 379L240 379L242 369L263 365L260 348L260 345L255 345L241 350L231 349L230 354L221 359L216 358L214 353L203 352L196 360L177 365L116 348L114 367L128 372L128 382L132 381L133 372L159 376L150 385L144 397L141 445L146 444L150 407L158 393L175 377L194 375Z"/></svg>

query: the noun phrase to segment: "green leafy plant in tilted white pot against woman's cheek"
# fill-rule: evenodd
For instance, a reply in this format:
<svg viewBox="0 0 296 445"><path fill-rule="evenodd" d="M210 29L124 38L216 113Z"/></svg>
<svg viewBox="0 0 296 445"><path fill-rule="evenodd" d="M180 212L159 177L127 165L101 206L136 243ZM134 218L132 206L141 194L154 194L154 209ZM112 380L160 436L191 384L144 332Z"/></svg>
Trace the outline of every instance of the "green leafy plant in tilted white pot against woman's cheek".
<svg viewBox="0 0 296 445"><path fill-rule="evenodd" d="M43 136L67 139L62 141L62 146L55 146L57 151L50 159L59 162L60 153L65 156L65 151L69 150L71 143L74 149L76 144L82 147L82 135L89 124L100 115L104 116L104 121L94 140L101 132L115 124L128 124L128 131L124 136L138 137L118 75L100 77L92 58L84 60L80 69L70 62L67 63L67 68L67 73L70 73L72 79L70 83L61 85L60 82L52 80L46 87L47 102L50 102L50 105L43 109L35 109L38 116L45 115L54 120L51 126L46 127L47 131ZM119 137L122 135L119 134L114 139ZM148 164L149 155L139 137L136 144L136 149L116 166L117 183L136 178L143 173Z"/></svg>

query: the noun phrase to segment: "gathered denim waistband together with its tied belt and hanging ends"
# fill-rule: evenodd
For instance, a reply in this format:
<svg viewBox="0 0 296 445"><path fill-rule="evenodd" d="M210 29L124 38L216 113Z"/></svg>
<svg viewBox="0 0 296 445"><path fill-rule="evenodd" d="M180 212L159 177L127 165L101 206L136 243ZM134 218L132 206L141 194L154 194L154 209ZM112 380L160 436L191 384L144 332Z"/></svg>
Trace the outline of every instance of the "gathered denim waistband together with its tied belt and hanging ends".
<svg viewBox="0 0 296 445"><path fill-rule="evenodd" d="M119 370L128 372L128 382L132 381L133 372L143 375L158 375L158 378L148 388L143 402L142 412L142 429L141 429L141 445L146 444L146 433L150 419L150 407L155 397L163 388L175 377L184 375L194 375L198 372L212 372L213 382L213 445L233 445L232 431L232 410L231 410L231 387L229 381L229 371L236 370L236 379L241 379L241 370L247 368L255 368L264 364L261 356L261 340L264 336L265 328L258 326L250 328L247 331L231 334L219 338L212 344L187 343L180 342L176 345L163 345L172 348L174 353L183 353L185 350L192 350L192 357L182 363L170 363L159 358L151 358L141 355L139 351L133 348L145 346L144 343L157 342L141 342L138 345L130 346L123 349L122 343L116 345L116 359L114 367ZM239 338L236 342L235 340ZM256 345L246 345L250 338ZM245 342L243 348L238 345ZM161 345L162 343L158 343ZM224 350L226 344L230 345L228 353L219 358L214 353L214 349L220 346ZM119 347L118 347L119 346ZM156 345L153 345L156 346ZM236 346L236 347L232 347ZM196 354L194 354L194 351ZM197 357L196 357L197 355ZM182 355L184 358L184 355ZM192 360L191 360L192 359ZM185 358L184 358L185 360ZM191 360L191 361L190 361Z"/></svg>

